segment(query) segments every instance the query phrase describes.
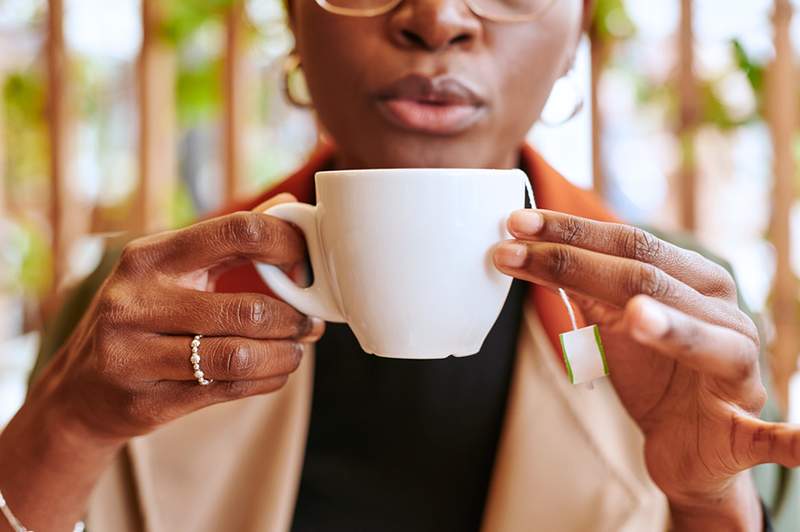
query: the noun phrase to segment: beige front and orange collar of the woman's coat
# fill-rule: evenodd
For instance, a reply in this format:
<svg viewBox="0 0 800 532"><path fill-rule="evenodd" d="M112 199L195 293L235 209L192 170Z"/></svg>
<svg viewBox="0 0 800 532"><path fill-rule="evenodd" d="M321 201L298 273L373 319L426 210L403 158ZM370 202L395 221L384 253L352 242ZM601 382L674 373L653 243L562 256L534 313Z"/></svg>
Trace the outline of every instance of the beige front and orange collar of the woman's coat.
<svg viewBox="0 0 800 532"><path fill-rule="evenodd" d="M307 192L325 156L269 194L290 189L308 200L292 187L302 182ZM586 215L597 209L530 149L523 156L539 206ZM565 376L551 330L564 323L554 318L563 313L555 303L533 297L525 305L483 530L666 530L668 507L645 469L643 436L610 382L588 390ZM289 530L313 371L309 348L280 391L195 412L131 441L94 492L90 530Z"/></svg>

